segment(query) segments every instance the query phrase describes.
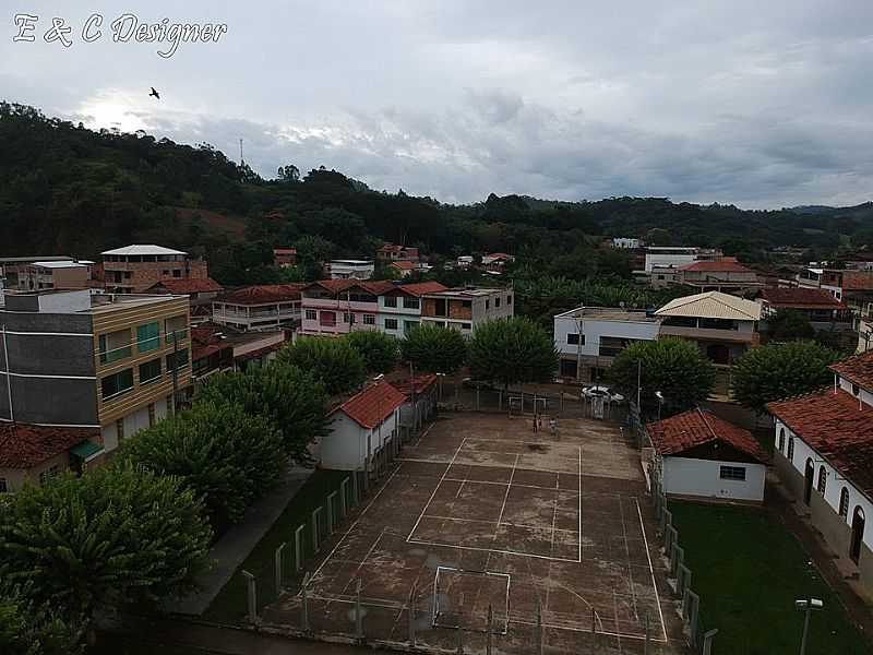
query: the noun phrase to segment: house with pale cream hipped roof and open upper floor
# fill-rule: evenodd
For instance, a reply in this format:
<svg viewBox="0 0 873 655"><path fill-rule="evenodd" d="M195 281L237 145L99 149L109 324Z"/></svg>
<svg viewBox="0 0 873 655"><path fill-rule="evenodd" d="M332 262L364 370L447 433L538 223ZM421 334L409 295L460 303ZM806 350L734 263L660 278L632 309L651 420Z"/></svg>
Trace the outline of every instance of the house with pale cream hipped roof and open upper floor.
<svg viewBox="0 0 873 655"><path fill-rule="evenodd" d="M760 343L761 305L720 291L671 300L655 312L659 336L693 341L716 365L729 365Z"/></svg>

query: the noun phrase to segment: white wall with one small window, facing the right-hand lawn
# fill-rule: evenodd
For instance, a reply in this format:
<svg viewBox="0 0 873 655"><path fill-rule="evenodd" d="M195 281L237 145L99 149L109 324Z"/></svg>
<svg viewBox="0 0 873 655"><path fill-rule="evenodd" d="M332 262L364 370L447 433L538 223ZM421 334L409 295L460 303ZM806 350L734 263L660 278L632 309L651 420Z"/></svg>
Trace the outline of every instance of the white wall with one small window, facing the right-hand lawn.
<svg viewBox="0 0 873 655"><path fill-rule="evenodd" d="M745 480L722 480L721 466L745 467ZM762 501L766 475L763 464L663 457L663 490L679 496Z"/></svg>

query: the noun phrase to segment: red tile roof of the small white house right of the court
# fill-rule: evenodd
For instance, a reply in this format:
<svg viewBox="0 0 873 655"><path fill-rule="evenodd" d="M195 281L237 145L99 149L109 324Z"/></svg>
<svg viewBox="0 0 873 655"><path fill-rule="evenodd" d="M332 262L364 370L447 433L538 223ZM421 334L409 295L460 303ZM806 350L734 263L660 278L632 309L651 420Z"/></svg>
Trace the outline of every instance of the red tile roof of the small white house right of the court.
<svg viewBox="0 0 873 655"><path fill-rule="evenodd" d="M728 422L708 409L691 409L646 426L655 450L661 455L679 455L698 445L720 441L758 462L767 453L749 430Z"/></svg>

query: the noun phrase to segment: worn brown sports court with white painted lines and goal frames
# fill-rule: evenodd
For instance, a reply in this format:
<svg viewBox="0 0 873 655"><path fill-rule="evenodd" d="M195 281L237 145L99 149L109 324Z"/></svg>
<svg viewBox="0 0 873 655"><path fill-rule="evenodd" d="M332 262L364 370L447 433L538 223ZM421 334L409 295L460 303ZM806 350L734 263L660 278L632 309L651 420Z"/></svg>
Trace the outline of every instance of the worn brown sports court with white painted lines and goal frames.
<svg viewBox="0 0 873 655"><path fill-rule="evenodd" d="M553 436L530 417L441 419L335 535L307 586L311 628L355 634L360 585L371 641L411 631L485 652L490 607L495 653L536 653L538 614L545 652L642 653L647 621L650 653L681 652L644 495L612 424L562 420ZM285 595L264 619L298 626L301 603Z"/></svg>

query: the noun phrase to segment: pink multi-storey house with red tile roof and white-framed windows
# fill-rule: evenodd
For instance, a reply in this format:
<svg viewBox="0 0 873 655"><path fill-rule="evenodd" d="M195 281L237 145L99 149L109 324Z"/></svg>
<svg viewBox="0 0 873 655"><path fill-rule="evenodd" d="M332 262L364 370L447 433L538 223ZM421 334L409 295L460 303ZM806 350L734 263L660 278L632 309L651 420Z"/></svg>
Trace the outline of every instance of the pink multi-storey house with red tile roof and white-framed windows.
<svg viewBox="0 0 873 655"><path fill-rule="evenodd" d="M301 334L336 335L378 330L379 296L394 288L391 282L321 279L303 286Z"/></svg>

